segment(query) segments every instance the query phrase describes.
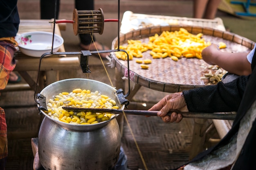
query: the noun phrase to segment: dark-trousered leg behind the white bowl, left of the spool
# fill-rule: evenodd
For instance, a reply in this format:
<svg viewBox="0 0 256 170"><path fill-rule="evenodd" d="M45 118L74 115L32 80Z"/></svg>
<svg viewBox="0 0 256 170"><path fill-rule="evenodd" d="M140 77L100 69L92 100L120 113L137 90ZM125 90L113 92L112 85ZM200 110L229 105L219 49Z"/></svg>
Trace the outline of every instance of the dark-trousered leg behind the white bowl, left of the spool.
<svg viewBox="0 0 256 170"><path fill-rule="evenodd" d="M60 9L60 0L40 0L40 17L41 19L52 19L55 15L55 3L57 3L56 19Z"/></svg>

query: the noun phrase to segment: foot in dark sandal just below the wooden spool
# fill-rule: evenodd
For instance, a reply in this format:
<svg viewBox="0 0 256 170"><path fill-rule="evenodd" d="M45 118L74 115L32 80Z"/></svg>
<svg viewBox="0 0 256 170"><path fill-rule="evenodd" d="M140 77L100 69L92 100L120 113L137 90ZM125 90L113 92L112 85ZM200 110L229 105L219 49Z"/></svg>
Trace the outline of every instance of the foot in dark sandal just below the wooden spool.
<svg viewBox="0 0 256 170"><path fill-rule="evenodd" d="M94 45L95 44L95 45ZM90 51L101 51L101 50L109 50L109 48L107 46L104 46L103 44L98 43L97 41L89 44L89 45L84 45L84 44L80 44L80 47L83 50L90 50ZM99 55L102 58L106 58L107 56L110 56L109 52L104 52L104 53L99 53Z"/></svg>

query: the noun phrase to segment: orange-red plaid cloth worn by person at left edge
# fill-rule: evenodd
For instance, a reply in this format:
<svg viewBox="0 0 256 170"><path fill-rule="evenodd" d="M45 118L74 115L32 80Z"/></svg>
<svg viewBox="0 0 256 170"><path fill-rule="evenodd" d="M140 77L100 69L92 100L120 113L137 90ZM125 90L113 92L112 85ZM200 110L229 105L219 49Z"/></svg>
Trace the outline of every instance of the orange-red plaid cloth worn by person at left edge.
<svg viewBox="0 0 256 170"><path fill-rule="evenodd" d="M18 43L14 37L0 38L0 90L4 89L9 80L9 74L15 68L13 59ZM0 169L6 162L7 149L7 124L4 109L0 107Z"/></svg>

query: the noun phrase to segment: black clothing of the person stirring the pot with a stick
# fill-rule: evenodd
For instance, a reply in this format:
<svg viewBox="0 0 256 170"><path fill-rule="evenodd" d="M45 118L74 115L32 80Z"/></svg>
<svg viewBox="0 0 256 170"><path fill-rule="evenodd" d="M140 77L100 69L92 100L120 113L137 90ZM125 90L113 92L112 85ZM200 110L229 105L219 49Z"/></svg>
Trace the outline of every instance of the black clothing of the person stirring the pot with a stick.
<svg viewBox="0 0 256 170"><path fill-rule="evenodd" d="M245 113L251 108L256 100L256 53L252 59L252 74L249 76L240 76L230 83L207 86L203 88L184 91L184 97L187 102L189 111L199 112L228 112L237 111L236 118L233 122L231 130L225 137L212 148L198 154L190 162L202 159L211 151L216 150L220 146L228 144L239 129L240 120L245 116ZM199 99L198 99L199 98ZM209 107L209 108L207 108ZM234 163L232 170L252 170L256 169L254 156L256 155L256 124L252 124L245 144L241 153ZM186 163L188 164L188 163Z"/></svg>

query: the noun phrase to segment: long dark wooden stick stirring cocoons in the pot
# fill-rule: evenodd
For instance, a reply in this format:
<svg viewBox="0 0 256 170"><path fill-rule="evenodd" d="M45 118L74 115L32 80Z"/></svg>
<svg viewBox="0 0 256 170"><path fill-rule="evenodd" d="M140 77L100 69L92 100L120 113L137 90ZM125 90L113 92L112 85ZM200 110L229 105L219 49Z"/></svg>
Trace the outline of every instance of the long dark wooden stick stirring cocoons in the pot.
<svg viewBox="0 0 256 170"><path fill-rule="evenodd" d="M76 107L62 107L67 111L91 111L97 113L114 113L114 114L128 114L128 115L140 115L140 116L157 116L158 111L147 111L147 110L119 110L119 109L92 109L92 108L76 108ZM218 120L234 120L236 114L225 114L225 113L193 113L193 112L181 112L177 110L171 110L168 115L172 112L182 114L183 118L202 118L202 119L218 119Z"/></svg>

